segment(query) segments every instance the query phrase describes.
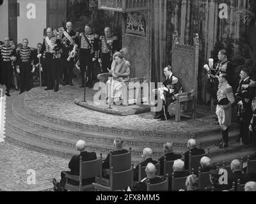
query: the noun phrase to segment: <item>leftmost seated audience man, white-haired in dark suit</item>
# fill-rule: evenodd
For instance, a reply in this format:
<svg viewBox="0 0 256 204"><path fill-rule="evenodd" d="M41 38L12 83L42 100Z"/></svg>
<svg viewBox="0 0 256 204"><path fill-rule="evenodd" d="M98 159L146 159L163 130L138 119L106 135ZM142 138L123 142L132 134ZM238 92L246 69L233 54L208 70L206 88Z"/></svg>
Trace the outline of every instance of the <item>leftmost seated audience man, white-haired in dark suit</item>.
<svg viewBox="0 0 256 204"><path fill-rule="evenodd" d="M95 152L86 152L86 143L83 140L79 140L76 143L76 148L77 151L80 152L80 154L77 156L73 156L70 162L68 163L68 168L70 168L70 171L61 172L60 183L56 182L56 179L52 179L52 183L54 184L54 191L62 191L62 187L64 187L66 184L66 178L63 172L68 173L70 175L79 175L80 157L82 157L82 161L93 161L97 159ZM92 182L95 182L95 178L83 179L82 185L90 185L92 184ZM79 182L70 179L68 179L68 184L79 186Z"/></svg>

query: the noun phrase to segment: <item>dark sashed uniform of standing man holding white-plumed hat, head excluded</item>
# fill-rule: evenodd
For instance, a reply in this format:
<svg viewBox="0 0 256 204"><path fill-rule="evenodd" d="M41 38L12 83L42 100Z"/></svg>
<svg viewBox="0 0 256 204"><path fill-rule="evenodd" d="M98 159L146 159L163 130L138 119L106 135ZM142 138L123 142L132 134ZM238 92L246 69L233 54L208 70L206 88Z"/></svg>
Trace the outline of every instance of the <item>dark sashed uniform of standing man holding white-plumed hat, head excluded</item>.
<svg viewBox="0 0 256 204"><path fill-rule="evenodd" d="M79 34L75 31L66 31L67 34L72 38L72 40L68 40L68 38L65 36L65 34L62 34L61 36L61 48L62 48L62 54L61 54L61 68L63 70L63 84L70 84L72 85L72 70L74 67L74 59L71 59L70 61L67 61L68 54L71 52L74 48L74 45L79 44L78 36Z"/></svg>

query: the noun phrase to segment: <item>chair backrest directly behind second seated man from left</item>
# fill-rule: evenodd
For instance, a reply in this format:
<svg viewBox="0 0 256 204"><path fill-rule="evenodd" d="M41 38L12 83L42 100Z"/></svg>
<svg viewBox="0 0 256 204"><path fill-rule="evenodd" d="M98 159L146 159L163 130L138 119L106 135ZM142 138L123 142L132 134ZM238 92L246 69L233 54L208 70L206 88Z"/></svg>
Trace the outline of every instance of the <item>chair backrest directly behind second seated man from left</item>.
<svg viewBox="0 0 256 204"><path fill-rule="evenodd" d="M131 149L125 154L112 155L109 157L109 169L113 168L114 172L125 171L131 168L132 154Z"/></svg>

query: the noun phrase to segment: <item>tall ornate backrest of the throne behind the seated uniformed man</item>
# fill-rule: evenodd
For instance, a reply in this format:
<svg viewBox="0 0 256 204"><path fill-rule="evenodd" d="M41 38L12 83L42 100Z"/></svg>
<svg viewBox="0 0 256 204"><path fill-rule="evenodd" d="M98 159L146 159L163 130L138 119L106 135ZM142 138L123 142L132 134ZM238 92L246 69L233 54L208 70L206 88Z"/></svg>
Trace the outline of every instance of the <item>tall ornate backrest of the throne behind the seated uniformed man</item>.
<svg viewBox="0 0 256 204"><path fill-rule="evenodd" d="M194 45L179 43L177 31L173 33L172 69L182 85L183 92L192 92L197 96L198 84L198 34L195 34Z"/></svg>

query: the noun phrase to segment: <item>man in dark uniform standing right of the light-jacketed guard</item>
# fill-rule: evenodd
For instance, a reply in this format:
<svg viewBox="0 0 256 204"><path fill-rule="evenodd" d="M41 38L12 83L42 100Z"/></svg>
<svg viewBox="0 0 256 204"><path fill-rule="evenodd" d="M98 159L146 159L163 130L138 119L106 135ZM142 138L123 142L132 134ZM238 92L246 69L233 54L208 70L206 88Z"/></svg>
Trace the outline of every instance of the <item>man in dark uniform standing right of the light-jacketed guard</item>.
<svg viewBox="0 0 256 204"><path fill-rule="evenodd" d="M236 92L240 117L240 138L244 144L250 143L249 126L252 119L252 99L255 94L255 82L250 78L250 71L243 68L240 73L241 81Z"/></svg>

